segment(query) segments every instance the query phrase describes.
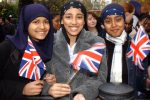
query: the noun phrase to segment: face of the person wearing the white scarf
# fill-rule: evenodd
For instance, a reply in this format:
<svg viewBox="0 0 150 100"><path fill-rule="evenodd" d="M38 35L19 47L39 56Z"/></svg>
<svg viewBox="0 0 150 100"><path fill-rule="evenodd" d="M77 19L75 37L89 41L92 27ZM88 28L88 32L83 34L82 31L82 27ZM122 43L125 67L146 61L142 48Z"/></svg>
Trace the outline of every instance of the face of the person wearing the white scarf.
<svg viewBox="0 0 150 100"><path fill-rule="evenodd" d="M122 16L110 15L104 20L104 27L110 36L119 37L124 30L125 22Z"/></svg>

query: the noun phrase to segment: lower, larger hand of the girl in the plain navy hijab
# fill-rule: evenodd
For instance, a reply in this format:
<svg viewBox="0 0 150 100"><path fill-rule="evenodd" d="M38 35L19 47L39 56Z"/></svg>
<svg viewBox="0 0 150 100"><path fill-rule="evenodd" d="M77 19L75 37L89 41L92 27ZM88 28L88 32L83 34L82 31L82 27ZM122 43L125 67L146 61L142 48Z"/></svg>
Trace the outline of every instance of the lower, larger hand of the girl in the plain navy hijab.
<svg viewBox="0 0 150 100"><path fill-rule="evenodd" d="M41 80L33 81L25 85L23 95L33 96L41 93L44 82Z"/></svg>

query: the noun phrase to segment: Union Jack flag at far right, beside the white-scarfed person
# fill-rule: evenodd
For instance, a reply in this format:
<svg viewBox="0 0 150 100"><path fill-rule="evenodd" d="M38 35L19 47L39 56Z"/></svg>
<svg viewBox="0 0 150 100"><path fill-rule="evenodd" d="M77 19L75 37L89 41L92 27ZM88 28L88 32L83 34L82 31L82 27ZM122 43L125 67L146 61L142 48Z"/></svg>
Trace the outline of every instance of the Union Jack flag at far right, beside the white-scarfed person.
<svg viewBox="0 0 150 100"><path fill-rule="evenodd" d="M142 61L150 53L150 40L142 26L139 27L137 34L133 37L127 57L131 58L135 65L144 70Z"/></svg>

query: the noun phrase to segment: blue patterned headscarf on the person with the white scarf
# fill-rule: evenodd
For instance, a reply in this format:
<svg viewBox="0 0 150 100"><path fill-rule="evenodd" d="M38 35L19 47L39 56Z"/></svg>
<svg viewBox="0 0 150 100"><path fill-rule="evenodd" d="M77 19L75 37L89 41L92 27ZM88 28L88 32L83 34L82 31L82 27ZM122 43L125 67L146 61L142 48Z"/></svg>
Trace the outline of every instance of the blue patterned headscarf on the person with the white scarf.
<svg viewBox="0 0 150 100"><path fill-rule="evenodd" d="M104 22L106 17L109 15L119 15L119 16L122 16L125 20L124 8L117 3L111 3L102 10L102 13L101 13L102 23Z"/></svg>

